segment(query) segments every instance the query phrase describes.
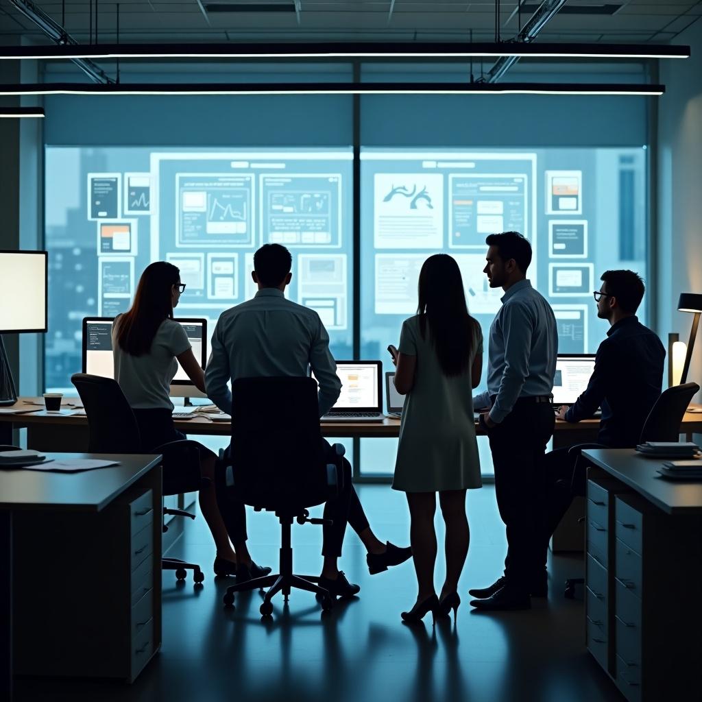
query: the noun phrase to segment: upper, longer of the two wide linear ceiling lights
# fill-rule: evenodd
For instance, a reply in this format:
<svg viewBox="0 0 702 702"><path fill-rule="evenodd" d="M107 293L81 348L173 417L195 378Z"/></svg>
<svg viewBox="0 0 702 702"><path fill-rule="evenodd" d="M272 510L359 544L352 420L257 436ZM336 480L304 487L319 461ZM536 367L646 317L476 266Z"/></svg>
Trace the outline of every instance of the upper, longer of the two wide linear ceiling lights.
<svg viewBox="0 0 702 702"><path fill-rule="evenodd" d="M669 44L539 44L338 42L317 44L66 44L2 46L0 59L239 58L239 59L456 59L519 56L534 58L689 58L689 46Z"/></svg>

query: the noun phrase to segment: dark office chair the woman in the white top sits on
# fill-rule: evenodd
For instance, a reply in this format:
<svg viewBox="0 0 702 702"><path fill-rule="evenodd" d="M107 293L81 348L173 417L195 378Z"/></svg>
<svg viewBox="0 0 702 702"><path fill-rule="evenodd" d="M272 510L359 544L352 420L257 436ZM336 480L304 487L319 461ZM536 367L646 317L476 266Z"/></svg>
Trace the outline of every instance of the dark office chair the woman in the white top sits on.
<svg viewBox="0 0 702 702"><path fill-rule="evenodd" d="M190 440L168 442L155 449L144 451L134 413L124 397L124 392L112 378L75 373L71 382L88 418L88 451L91 453L161 453L163 465L163 494L178 495L200 489L206 478L200 476L200 450L197 442ZM164 508L163 515L190 517L195 515L184 510ZM164 533L168 531L165 522ZM176 571L176 578L185 580L192 570L192 579L201 583L205 579L199 565L178 558L161 558L161 569Z"/></svg>

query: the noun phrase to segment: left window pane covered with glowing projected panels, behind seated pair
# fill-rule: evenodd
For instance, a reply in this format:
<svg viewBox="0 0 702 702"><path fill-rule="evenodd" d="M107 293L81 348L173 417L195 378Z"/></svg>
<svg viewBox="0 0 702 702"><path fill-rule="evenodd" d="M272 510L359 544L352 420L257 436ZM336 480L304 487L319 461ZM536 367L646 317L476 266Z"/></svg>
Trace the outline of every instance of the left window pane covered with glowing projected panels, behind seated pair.
<svg viewBox="0 0 702 702"><path fill-rule="evenodd" d="M206 317L257 291L253 253L293 256L286 296L319 312L336 357L352 356L352 151L46 148L50 296L47 388L81 366L82 317L131 305L154 260L180 269L176 316Z"/></svg>

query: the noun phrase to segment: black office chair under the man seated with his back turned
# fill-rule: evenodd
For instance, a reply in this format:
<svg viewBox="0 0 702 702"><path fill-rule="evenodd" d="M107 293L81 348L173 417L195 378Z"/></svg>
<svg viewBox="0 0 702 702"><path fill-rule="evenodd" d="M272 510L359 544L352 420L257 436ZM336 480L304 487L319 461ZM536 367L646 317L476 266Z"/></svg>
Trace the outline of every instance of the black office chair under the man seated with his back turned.
<svg viewBox="0 0 702 702"><path fill-rule="evenodd" d="M319 431L317 383L312 378L241 378L232 384L232 446L227 457L227 494L256 511L275 512L281 525L280 572L227 588L224 604L234 604L234 592L270 588L260 606L262 616L273 611L272 597L291 589L316 593L322 609L333 601L320 588L318 577L293 574L290 543L293 520L310 519L308 507L324 503L343 486L344 447L334 444L326 455Z"/></svg>

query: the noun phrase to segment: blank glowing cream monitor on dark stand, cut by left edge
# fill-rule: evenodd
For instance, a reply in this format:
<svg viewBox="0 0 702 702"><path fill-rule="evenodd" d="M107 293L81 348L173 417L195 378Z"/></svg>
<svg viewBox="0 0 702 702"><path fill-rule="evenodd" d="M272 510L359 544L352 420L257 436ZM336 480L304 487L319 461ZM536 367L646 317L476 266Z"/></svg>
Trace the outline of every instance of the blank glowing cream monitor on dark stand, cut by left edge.
<svg viewBox="0 0 702 702"><path fill-rule="evenodd" d="M0 406L17 402L2 335L46 331L46 251L0 251Z"/></svg>

